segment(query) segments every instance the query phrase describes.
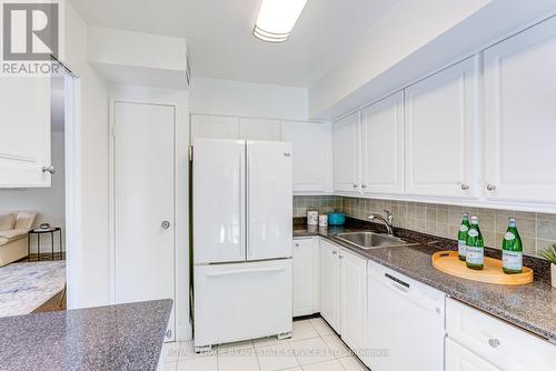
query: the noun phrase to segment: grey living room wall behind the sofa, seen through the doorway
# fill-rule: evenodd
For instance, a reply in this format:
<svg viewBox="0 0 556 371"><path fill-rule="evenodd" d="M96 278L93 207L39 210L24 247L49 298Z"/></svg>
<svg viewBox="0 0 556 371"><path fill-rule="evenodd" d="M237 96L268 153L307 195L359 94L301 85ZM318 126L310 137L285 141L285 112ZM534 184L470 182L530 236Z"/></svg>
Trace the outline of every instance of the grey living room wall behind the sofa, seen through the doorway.
<svg viewBox="0 0 556 371"><path fill-rule="evenodd" d="M40 223L50 223L66 230L66 192L63 169L63 132L51 134L52 164L56 173L52 176L52 186L49 188L4 189L0 190L0 210L33 210L39 214L34 220L34 227ZM50 252L48 237L41 239L44 243L42 252ZM37 251L36 238L32 238L31 252ZM63 241L62 241L63 242ZM56 233L54 249L58 251L58 233Z"/></svg>

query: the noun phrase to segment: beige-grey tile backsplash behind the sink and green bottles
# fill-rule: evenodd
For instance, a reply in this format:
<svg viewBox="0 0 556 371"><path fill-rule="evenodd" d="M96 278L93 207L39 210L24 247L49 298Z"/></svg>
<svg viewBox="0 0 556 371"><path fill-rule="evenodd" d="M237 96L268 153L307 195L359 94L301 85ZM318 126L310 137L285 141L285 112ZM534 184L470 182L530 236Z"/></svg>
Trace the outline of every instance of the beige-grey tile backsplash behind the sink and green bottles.
<svg viewBox="0 0 556 371"><path fill-rule="evenodd" d="M318 210L320 213L337 210L351 218L366 220L370 213L381 213L385 209L393 213L395 227L449 239L456 239L464 211L469 217L476 214L485 244L495 249L502 247L508 217L515 217L524 253L528 255L538 255L539 251L556 242L556 214L338 195L294 197L294 217L306 217L307 210Z"/></svg>

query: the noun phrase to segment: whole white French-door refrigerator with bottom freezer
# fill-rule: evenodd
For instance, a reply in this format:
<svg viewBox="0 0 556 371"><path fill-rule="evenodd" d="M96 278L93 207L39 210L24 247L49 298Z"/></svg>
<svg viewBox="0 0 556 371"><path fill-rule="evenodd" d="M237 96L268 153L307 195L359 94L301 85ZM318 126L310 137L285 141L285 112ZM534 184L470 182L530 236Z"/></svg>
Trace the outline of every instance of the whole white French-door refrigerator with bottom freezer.
<svg viewBox="0 0 556 371"><path fill-rule="evenodd" d="M292 331L291 143L198 139L192 152L197 350Z"/></svg>

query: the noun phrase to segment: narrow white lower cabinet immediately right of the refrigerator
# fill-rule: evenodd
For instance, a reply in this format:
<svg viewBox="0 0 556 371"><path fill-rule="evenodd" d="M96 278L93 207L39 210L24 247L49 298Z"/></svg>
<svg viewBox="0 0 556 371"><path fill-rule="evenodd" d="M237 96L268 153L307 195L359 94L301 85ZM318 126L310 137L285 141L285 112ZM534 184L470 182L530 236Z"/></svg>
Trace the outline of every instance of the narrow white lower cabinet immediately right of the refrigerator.
<svg viewBox="0 0 556 371"><path fill-rule="evenodd" d="M319 311L319 238L294 239L294 317Z"/></svg>

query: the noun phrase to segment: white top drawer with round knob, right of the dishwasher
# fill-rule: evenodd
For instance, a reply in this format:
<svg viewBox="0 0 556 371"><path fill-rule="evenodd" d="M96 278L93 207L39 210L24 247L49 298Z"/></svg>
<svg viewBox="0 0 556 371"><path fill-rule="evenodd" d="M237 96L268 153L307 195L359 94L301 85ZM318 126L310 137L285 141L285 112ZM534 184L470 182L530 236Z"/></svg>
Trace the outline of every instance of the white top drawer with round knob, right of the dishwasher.
<svg viewBox="0 0 556 371"><path fill-rule="evenodd" d="M556 364L556 345L453 299L446 301L446 330L503 370L546 371Z"/></svg>

